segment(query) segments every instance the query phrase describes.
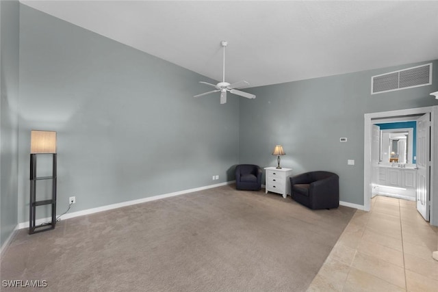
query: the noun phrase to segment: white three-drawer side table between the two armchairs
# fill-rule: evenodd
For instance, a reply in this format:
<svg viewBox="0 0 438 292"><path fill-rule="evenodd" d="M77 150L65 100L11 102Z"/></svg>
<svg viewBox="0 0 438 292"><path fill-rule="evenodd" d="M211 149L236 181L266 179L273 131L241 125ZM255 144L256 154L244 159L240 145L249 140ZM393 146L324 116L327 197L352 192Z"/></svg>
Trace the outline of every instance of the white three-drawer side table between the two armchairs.
<svg viewBox="0 0 438 292"><path fill-rule="evenodd" d="M292 175L292 168L275 167L265 168L266 170L266 194L272 191L276 194L282 194L283 198L290 196L289 176Z"/></svg>

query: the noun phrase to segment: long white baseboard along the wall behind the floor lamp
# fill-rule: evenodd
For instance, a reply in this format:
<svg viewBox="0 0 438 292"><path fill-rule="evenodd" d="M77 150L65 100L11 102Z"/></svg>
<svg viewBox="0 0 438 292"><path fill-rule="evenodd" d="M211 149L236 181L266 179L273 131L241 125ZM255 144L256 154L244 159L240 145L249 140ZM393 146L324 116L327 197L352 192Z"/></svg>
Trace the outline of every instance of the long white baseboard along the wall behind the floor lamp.
<svg viewBox="0 0 438 292"><path fill-rule="evenodd" d="M117 208L121 208L121 207L127 207L127 206L131 206L133 204L141 204L144 202L151 202L151 201L159 200L159 199L163 199L163 198L169 198L169 197L173 197L173 196L179 196L179 195L183 195L183 194L193 193L194 191L203 191L204 189L212 189L214 187L222 187L222 185L231 185L232 183L235 183L235 181L227 181L225 183L216 183L215 185L207 185L205 187L196 187L194 189L185 189L183 191L175 191L175 192L169 193L169 194L151 196L151 197L146 197L146 198L142 198L142 199L138 199L138 200L131 200L131 201L127 201L127 202L110 204L110 205L106 205L106 206L102 206L102 207L86 209L86 210L77 211L77 212L73 212L73 213L66 213L65 215L62 215L61 219L64 220L64 219L68 219L68 218L98 213L101 211L107 211L107 210L117 209ZM36 220L35 225L38 226L44 222L50 222L50 221L51 221L51 217L41 218L41 219ZM16 229L22 229L22 228L29 228L29 221L21 222L20 224L18 224Z"/></svg>

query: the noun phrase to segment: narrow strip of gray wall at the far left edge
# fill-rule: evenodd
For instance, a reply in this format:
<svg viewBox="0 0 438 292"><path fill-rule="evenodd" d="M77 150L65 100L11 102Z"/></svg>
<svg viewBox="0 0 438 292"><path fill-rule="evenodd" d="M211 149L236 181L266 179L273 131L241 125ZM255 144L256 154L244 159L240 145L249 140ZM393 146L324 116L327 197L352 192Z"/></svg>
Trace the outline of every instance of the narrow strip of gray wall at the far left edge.
<svg viewBox="0 0 438 292"><path fill-rule="evenodd" d="M18 1L0 1L0 246L17 224Z"/></svg>

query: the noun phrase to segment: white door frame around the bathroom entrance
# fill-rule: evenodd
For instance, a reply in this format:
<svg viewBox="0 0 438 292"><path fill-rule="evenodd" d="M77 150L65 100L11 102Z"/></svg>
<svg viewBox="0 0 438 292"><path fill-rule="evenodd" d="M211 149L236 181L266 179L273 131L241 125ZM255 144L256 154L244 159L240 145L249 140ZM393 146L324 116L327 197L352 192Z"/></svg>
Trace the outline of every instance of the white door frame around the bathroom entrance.
<svg viewBox="0 0 438 292"><path fill-rule="evenodd" d="M399 109L396 111L380 111L364 115L364 150L363 150L363 209L370 211L371 206L371 143L372 119L396 118L409 115L430 113L430 224L438 226L438 106L417 107L413 109Z"/></svg>

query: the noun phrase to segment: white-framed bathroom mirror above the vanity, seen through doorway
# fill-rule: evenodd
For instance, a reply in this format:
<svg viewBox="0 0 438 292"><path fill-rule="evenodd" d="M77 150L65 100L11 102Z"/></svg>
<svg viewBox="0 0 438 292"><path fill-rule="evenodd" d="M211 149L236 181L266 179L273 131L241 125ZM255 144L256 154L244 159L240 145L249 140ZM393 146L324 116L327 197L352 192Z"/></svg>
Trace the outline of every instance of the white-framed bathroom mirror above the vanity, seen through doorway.
<svg viewBox="0 0 438 292"><path fill-rule="evenodd" d="M381 130L381 162L413 163L413 129Z"/></svg>

